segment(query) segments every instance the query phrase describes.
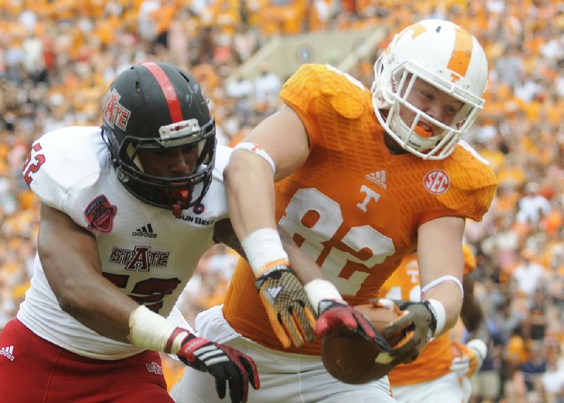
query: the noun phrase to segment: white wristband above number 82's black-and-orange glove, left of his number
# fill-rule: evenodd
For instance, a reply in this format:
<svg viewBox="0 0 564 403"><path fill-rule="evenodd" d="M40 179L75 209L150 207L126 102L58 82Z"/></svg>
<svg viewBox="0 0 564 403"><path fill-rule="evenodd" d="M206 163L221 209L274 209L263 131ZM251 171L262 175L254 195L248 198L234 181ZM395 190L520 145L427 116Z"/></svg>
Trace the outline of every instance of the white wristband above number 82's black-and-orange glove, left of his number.
<svg viewBox="0 0 564 403"><path fill-rule="evenodd" d="M241 241L241 246L257 277L264 273L267 266L271 266L269 263L285 261L286 264L289 264L288 254L282 247L280 235L272 228L256 230Z"/></svg>

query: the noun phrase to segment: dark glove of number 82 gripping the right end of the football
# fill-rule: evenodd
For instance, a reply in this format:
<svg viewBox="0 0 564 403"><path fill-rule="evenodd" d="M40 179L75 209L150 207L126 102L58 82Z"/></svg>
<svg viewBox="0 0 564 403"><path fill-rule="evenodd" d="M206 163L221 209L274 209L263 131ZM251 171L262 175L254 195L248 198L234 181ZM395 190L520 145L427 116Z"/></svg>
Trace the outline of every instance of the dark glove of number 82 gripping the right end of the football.
<svg viewBox="0 0 564 403"><path fill-rule="evenodd" d="M382 331L386 340L405 334L391 356L404 363L415 361L436 330L436 318L428 301L394 301L403 314Z"/></svg>

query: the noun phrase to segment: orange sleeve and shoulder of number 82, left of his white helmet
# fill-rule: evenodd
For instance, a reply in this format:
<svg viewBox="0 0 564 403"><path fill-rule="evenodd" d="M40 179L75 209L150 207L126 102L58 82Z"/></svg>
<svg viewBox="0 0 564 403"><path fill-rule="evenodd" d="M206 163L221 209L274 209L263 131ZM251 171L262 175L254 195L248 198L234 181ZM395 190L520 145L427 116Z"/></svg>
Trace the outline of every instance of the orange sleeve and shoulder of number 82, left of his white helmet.
<svg viewBox="0 0 564 403"><path fill-rule="evenodd" d="M360 118L372 107L370 92L360 81L320 64L300 66L284 83L280 97L302 120L310 149L340 147L339 138L326 141L331 129L343 128L348 120Z"/></svg>

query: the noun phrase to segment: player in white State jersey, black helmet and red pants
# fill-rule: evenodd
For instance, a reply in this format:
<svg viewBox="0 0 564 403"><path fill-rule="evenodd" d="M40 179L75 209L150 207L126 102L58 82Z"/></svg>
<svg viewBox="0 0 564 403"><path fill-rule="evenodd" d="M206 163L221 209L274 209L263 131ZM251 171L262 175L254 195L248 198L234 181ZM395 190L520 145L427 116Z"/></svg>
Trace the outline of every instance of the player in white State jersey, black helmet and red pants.
<svg viewBox="0 0 564 403"><path fill-rule="evenodd" d="M30 290L0 333L0 400L172 402L166 352L245 402L259 387L252 359L165 318L230 227L230 149L216 148L200 84L142 63L116 77L103 108L102 129L49 132L25 163L41 221Z"/></svg>

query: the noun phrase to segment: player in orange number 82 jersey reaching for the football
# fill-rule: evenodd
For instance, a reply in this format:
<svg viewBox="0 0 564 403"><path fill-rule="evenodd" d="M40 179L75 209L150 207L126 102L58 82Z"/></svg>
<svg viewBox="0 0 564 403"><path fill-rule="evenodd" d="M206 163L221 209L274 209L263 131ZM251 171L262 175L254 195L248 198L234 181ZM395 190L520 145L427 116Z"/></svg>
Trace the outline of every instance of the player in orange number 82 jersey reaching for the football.
<svg viewBox="0 0 564 403"><path fill-rule="evenodd" d="M458 25L422 20L393 38L374 73L369 90L332 66L301 66L280 93L286 106L235 147L224 172L249 264L235 268L223 306L195 324L253 357L262 387L250 401L393 402L387 377L332 378L321 338L345 325L388 348L353 306L378 294L415 249L424 298L384 330L412 329L391 354L415 359L458 320L465 218L481 220L497 186L461 140L484 105L486 56ZM277 223L321 270L290 267ZM188 370L171 395L217 402L210 390Z"/></svg>

